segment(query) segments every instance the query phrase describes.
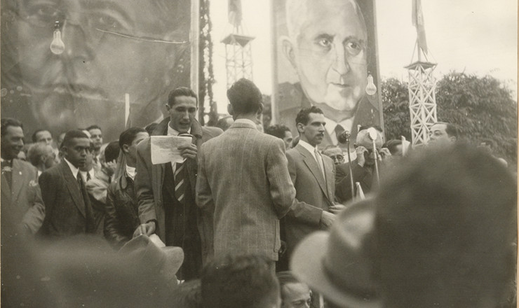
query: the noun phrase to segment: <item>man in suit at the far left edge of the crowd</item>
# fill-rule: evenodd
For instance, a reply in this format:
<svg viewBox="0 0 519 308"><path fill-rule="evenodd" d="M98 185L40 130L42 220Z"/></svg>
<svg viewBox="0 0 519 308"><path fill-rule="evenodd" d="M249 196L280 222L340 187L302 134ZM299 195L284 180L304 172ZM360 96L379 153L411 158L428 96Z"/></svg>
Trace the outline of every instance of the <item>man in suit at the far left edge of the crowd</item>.
<svg viewBox="0 0 519 308"><path fill-rule="evenodd" d="M8 225L21 226L35 233L41 227L45 208L38 185L38 170L28 162L18 160L23 147L23 128L13 118L1 119L1 225L2 236L11 236L18 230L7 230ZM8 223L6 220L10 220ZM4 228L5 227L5 228Z"/></svg>

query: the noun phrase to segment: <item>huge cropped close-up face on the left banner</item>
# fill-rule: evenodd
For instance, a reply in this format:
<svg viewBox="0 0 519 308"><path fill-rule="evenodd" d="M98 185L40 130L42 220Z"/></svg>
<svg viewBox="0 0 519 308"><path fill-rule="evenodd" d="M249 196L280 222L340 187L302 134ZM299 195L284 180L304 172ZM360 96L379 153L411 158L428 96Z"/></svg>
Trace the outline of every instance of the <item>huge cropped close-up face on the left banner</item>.
<svg viewBox="0 0 519 308"><path fill-rule="evenodd" d="M4 80L11 81L11 88L29 97L20 113L30 113L39 127L62 132L96 123L107 137L116 138L123 128L128 93L132 125L144 126L161 116L159 106L171 88L189 85L189 3L20 0L6 4L2 7L6 10L2 12L2 96L9 91ZM65 43L60 55L50 51L56 21Z"/></svg>

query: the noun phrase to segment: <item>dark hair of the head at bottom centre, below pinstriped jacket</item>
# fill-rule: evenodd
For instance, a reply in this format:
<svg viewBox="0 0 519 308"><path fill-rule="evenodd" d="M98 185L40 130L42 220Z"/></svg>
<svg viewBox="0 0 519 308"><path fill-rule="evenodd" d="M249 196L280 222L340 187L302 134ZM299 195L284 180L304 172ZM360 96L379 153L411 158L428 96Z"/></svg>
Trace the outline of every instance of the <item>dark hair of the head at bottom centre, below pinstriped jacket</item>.
<svg viewBox="0 0 519 308"><path fill-rule="evenodd" d="M202 270L203 307L260 308L279 293L269 260L257 255L227 255Z"/></svg>

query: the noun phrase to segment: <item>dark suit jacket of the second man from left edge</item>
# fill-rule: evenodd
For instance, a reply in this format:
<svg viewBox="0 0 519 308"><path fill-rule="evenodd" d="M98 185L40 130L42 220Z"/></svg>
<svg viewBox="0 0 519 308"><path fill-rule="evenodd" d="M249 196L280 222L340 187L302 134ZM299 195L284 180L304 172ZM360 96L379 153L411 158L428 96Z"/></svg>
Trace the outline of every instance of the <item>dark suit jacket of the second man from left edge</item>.
<svg viewBox="0 0 519 308"><path fill-rule="evenodd" d="M62 237L86 233L86 204L67 162L62 160L43 172L39 183L46 211L40 234Z"/></svg>

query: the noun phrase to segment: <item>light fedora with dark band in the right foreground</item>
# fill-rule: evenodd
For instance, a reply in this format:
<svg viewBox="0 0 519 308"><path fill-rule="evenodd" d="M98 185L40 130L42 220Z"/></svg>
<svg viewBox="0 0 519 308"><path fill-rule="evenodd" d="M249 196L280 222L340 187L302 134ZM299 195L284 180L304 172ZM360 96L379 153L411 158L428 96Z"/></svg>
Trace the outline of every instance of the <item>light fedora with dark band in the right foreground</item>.
<svg viewBox="0 0 519 308"><path fill-rule="evenodd" d="M299 243L290 269L340 307L382 307L366 241L374 217L372 199L354 202L339 214L330 232L314 232Z"/></svg>

